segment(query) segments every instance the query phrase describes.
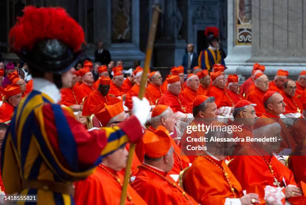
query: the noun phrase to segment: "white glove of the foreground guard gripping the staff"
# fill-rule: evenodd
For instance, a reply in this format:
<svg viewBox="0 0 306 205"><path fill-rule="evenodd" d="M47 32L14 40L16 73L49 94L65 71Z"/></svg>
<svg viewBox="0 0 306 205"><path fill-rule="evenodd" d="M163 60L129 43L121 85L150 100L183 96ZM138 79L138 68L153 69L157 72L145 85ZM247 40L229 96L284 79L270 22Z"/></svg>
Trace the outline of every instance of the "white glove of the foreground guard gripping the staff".
<svg viewBox="0 0 306 205"><path fill-rule="evenodd" d="M132 97L132 102L132 115L134 115L139 120L140 124L144 125L150 113L150 103L145 98L140 100L135 96Z"/></svg>

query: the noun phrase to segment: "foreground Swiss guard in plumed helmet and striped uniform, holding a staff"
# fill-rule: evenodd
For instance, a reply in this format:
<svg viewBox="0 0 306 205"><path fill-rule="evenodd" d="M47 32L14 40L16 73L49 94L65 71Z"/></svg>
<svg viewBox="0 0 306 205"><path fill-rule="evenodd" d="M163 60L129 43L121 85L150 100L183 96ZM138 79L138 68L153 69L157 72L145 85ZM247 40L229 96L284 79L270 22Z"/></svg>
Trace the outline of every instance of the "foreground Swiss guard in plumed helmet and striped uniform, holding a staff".
<svg viewBox="0 0 306 205"><path fill-rule="evenodd" d="M9 32L10 46L27 63L33 90L15 108L1 149L6 194L38 195L39 205L74 204L74 181L101 159L142 136L149 113L134 98L131 117L88 132L71 110L60 107L59 89L70 87L83 49L84 31L63 8L27 6Z"/></svg>

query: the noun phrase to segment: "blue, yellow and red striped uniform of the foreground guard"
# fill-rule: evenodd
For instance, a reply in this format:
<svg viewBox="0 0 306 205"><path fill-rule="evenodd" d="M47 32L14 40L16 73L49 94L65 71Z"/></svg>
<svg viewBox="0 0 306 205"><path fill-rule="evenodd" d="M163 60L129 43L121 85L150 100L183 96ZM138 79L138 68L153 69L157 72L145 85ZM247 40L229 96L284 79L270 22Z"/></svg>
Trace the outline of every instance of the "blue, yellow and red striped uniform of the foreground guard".
<svg viewBox="0 0 306 205"><path fill-rule="evenodd" d="M70 110L34 90L19 103L3 141L1 175L5 192L37 194L36 204L74 204L70 195L23 189L21 182L81 180L93 172L104 156L141 135L141 126L134 116L113 128L87 132Z"/></svg>

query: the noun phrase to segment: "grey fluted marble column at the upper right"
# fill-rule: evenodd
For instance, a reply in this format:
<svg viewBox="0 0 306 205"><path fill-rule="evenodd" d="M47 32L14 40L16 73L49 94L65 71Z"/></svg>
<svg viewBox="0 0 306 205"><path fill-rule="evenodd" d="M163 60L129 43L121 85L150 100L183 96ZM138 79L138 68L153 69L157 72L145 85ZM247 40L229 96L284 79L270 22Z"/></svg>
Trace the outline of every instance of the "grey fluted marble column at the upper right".
<svg viewBox="0 0 306 205"><path fill-rule="evenodd" d="M248 62L297 76L306 61L306 0L252 0L252 49Z"/></svg>

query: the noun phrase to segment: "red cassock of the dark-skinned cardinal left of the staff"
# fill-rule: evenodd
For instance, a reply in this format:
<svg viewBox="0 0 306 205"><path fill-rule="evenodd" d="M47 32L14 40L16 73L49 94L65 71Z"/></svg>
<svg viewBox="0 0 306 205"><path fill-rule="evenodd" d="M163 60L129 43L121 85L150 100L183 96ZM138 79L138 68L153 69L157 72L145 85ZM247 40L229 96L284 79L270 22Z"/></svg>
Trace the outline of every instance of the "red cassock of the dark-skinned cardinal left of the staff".
<svg viewBox="0 0 306 205"><path fill-rule="evenodd" d="M110 96L109 94L103 96L100 91L94 90L84 101L82 116L89 116L101 111L104 107L104 103L106 105L113 105L118 102L121 102L119 98Z"/></svg>

